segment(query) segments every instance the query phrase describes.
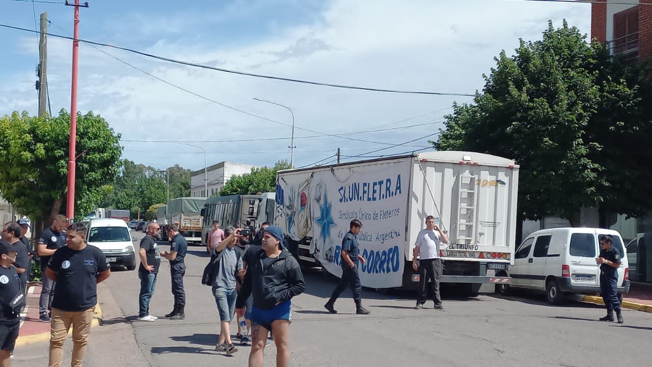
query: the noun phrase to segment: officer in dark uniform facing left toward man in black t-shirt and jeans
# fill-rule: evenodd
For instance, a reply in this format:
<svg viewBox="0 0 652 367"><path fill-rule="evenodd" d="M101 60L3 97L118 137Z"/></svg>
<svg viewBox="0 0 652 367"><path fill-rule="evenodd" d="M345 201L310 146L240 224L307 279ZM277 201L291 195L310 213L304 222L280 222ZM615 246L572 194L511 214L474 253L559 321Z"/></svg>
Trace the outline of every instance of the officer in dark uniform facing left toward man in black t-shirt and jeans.
<svg viewBox="0 0 652 367"><path fill-rule="evenodd" d="M186 264L183 260L186 257L188 242L179 233L178 225L168 224L165 229L170 238L170 252L163 251L161 256L170 260L170 278L172 279L172 295L174 295L174 309L165 317L170 317L171 320L183 320L186 318L186 291L183 289Z"/></svg>

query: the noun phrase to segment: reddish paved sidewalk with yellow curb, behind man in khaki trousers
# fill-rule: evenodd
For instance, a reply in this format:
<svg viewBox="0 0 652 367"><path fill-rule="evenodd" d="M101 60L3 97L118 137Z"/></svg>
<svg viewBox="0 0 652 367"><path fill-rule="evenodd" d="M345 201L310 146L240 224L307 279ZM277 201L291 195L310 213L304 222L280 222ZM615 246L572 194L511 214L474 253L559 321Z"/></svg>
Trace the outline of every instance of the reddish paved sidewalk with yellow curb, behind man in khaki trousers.
<svg viewBox="0 0 652 367"><path fill-rule="evenodd" d="M38 319L38 298L40 297L41 286L35 284L27 291L27 306L20 314L20 332L16 345L29 343L46 342L50 340L50 323L44 323ZM102 310L98 304L95 308L95 319L92 326L99 325L102 319Z"/></svg>

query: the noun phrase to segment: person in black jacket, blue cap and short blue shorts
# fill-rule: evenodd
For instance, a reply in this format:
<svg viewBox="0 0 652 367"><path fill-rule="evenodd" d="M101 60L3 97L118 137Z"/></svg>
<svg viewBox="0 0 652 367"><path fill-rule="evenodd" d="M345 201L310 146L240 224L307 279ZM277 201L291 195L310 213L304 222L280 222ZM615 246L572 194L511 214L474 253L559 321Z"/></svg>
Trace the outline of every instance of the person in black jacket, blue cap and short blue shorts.
<svg viewBox="0 0 652 367"><path fill-rule="evenodd" d="M297 260L282 247L283 230L270 226L263 232L263 246L247 265L243 285L235 302L243 316L249 295L254 300L251 310L252 348L249 367L263 366L263 350L267 334L274 333L276 367L289 366L289 324L292 322L291 298L306 289Z"/></svg>

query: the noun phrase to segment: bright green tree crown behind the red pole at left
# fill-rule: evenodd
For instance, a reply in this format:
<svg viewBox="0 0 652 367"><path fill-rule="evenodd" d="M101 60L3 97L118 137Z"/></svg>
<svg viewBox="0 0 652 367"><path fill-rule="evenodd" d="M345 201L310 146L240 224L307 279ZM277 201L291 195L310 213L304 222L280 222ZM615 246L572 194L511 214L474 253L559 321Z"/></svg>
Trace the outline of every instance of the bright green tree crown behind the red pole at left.
<svg viewBox="0 0 652 367"><path fill-rule="evenodd" d="M0 191L23 214L50 225L65 213L70 114L0 118ZM118 172L120 135L99 115L77 115L75 217L93 210Z"/></svg>

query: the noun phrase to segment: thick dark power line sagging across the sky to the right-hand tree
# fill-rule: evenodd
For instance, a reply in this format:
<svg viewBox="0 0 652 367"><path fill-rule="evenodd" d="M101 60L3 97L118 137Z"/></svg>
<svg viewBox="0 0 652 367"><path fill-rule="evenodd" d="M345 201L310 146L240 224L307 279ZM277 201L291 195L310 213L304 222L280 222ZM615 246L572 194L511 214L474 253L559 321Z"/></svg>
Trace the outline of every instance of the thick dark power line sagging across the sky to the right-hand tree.
<svg viewBox="0 0 652 367"><path fill-rule="evenodd" d="M0 27L16 29L16 30L25 31L25 32L33 32L31 29L25 29L25 28L22 28L22 27L14 27L13 25L7 25L7 24L0 24ZM63 38L63 39L68 39L68 40L74 40L73 37L68 37L68 36L63 36L63 35L55 35L53 33L47 33L47 34L52 36L52 37L58 37L58 38ZM133 50L131 48L126 48L126 47L122 47L122 46L113 46L112 44L107 44L107 43L102 43L102 42L95 42L95 41L92 41L92 40L78 39L78 41L83 42L83 43L87 43L87 44L95 44L96 46L104 46L104 47L116 48L118 50L123 50L123 51L126 51L126 52L132 52L133 54L138 54L138 55L145 56L145 57L151 57L153 59L158 59L158 60L162 60L162 61L168 61L170 63L176 63L176 64L179 64L179 65L186 65L186 66L189 66L189 67L196 67L196 68L200 68L200 69L208 69L208 70L220 71L220 72L228 72L230 74L237 74L237 75L243 75L243 76L253 76L253 77L256 77L256 78L265 78L265 79L271 79L271 80L282 80L284 82L295 82L295 83L301 83L301 84L312 84L314 86L325 86L325 87L343 88L343 89L357 89L357 90L364 90L364 91L377 91L377 92L387 92L387 93L422 94L422 95L449 95L449 96L459 96L459 97L477 97L477 93L473 93L473 94L471 94L471 93L448 93L448 92L434 92L434 91L409 91L409 90L399 90L399 89L371 88L371 87L360 87L360 86L348 86L346 84L314 82L314 81L311 81L311 80L285 78L285 77L282 77L282 76L254 74L252 72L244 72L244 71L237 71L237 70L231 70L231 69L224 69L224 68L219 68L219 67L212 67L212 66L209 66L209 65L191 63L190 61L171 59L170 57L157 56L157 55L154 55L154 54L148 54L147 52Z"/></svg>

